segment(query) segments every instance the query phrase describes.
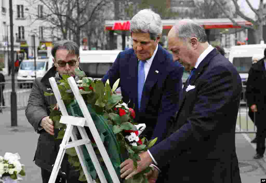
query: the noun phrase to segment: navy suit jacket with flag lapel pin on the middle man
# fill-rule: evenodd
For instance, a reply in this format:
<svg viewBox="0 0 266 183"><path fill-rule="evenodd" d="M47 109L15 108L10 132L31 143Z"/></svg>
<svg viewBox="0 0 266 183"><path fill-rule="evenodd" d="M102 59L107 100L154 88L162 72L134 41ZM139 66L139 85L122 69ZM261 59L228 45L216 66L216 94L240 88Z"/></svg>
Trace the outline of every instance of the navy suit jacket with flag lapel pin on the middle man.
<svg viewBox="0 0 266 183"><path fill-rule="evenodd" d="M156 72L158 71L158 72ZM148 139L158 137L157 143L167 135L170 119L178 108L182 90L183 67L173 62L172 55L160 45L152 61L146 78L141 108L138 109L138 58L133 49L120 52L102 81L110 80L110 85L120 78L119 86L124 102L134 107L136 122L146 123L143 135Z"/></svg>

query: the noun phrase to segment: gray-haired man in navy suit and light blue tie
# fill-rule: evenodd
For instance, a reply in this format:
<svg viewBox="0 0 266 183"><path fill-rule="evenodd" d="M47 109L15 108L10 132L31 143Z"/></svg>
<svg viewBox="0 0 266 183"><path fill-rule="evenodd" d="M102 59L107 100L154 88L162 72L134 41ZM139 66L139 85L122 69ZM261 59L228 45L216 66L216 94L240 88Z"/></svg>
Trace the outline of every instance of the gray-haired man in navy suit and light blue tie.
<svg viewBox="0 0 266 183"><path fill-rule="evenodd" d="M120 52L102 79L113 86L120 78L123 101L135 106L135 121L146 124L142 135L157 137L157 142L166 138L178 109L184 71L158 44L162 30L160 15L149 9L139 11L130 24L133 49Z"/></svg>

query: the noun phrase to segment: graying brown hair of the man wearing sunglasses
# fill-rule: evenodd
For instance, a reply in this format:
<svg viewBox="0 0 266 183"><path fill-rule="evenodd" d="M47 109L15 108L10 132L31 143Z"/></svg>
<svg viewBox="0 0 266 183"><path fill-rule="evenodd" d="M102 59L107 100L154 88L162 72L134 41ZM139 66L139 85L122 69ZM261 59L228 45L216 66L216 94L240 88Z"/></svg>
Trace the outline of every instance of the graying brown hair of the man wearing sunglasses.
<svg viewBox="0 0 266 183"><path fill-rule="evenodd" d="M78 48L77 43L73 42L73 41L69 41L69 40L61 40L61 41L56 41L53 44L53 48L52 48L52 56L55 58L55 54L56 51L59 49L66 49L68 50L68 54L69 55L80 55L80 50Z"/></svg>

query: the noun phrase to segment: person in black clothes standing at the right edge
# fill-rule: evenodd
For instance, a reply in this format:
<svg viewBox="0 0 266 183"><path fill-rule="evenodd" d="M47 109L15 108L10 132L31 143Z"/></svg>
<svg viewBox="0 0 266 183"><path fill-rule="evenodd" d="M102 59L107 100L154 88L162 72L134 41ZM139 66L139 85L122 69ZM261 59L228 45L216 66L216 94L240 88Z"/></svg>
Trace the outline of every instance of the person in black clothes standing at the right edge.
<svg viewBox="0 0 266 183"><path fill-rule="evenodd" d="M249 107L249 116L254 116L257 127L255 142L257 143L256 155L254 159L263 158L265 152L266 138L266 48L264 49L264 58L253 64L248 72L247 80L247 104ZM253 114L252 114L253 113ZM254 142L254 141L253 141Z"/></svg>

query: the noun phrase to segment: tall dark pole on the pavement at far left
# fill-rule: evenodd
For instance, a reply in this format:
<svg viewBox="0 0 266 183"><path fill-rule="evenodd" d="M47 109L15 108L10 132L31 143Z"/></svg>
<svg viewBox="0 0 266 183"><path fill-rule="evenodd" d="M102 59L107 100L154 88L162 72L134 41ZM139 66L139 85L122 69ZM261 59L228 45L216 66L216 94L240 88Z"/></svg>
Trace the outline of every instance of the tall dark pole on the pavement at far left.
<svg viewBox="0 0 266 183"><path fill-rule="evenodd" d="M12 0L9 0L10 16L10 41L11 41L11 66L12 66L12 91L11 91L11 126L18 126L17 100L15 91L15 64L14 64L14 37L13 37L13 8Z"/></svg>

